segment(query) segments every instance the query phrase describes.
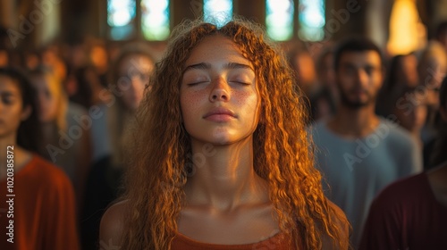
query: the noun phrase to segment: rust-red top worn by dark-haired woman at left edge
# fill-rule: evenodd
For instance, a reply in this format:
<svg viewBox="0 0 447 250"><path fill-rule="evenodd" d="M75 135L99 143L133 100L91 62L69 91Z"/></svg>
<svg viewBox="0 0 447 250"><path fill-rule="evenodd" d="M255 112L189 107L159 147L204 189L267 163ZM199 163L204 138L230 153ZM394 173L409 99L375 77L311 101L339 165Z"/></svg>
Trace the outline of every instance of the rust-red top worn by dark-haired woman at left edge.
<svg viewBox="0 0 447 250"><path fill-rule="evenodd" d="M0 249L79 250L74 192L66 174L33 154L13 178L11 218L6 215L7 179L0 179ZM6 241L9 220L13 220L13 243Z"/></svg>

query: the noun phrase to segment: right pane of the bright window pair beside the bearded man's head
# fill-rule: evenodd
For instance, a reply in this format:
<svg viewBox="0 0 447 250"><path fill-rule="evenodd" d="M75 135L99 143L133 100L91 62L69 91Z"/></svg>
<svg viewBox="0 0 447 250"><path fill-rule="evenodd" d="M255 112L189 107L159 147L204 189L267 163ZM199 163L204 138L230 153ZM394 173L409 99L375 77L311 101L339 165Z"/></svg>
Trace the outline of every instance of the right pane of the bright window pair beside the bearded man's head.
<svg viewBox="0 0 447 250"><path fill-rule="evenodd" d="M325 0L299 1L299 37L320 41L325 37Z"/></svg>

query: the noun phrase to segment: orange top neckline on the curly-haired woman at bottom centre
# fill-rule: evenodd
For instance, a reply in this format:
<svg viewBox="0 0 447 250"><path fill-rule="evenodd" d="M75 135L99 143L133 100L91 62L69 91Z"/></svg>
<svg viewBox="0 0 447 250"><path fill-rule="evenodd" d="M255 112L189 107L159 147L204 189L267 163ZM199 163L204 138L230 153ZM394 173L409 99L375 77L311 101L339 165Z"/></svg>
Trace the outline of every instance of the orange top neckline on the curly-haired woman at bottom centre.
<svg viewBox="0 0 447 250"><path fill-rule="evenodd" d="M177 233L171 244L172 250L254 250L254 249L276 249L291 250L295 247L291 246L289 237L283 233L277 233L273 237L266 238L263 241L252 244L242 245L217 245L210 243L198 242L190 237L186 237Z"/></svg>

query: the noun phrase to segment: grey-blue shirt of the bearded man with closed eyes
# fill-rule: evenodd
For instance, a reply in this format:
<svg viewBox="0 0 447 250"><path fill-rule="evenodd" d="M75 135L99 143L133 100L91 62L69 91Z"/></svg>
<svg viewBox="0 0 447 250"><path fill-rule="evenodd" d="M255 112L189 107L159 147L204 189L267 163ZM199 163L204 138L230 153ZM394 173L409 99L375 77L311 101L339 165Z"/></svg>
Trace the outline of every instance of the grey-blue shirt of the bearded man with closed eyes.
<svg viewBox="0 0 447 250"><path fill-rule="evenodd" d="M384 119L367 137L357 139L333 133L326 121L317 122L311 133L325 195L346 213L353 229L351 243L358 246L374 197L392 181L422 171L421 149L406 130Z"/></svg>

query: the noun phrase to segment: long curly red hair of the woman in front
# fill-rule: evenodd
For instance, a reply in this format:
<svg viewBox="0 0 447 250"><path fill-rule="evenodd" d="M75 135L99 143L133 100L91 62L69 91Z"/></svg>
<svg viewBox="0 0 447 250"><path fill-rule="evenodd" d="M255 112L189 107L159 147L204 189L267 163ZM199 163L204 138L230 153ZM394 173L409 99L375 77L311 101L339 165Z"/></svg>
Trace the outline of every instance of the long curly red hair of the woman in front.
<svg viewBox="0 0 447 250"><path fill-rule="evenodd" d="M327 204L321 175L314 168L308 113L302 94L279 47L250 21L222 28L203 21L184 22L173 31L167 52L156 63L152 89L140 104L129 148L125 249L170 249L184 205L183 186L190 162L190 137L181 125L180 84L191 50L204 37L232 39L255 68L261 98L260 122L253 135L254 166L266 179L280 228L292 244L321 249L322 237L342 245L339 218ZM341 248L342 246L340 246Z"/></svg>

